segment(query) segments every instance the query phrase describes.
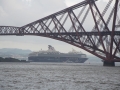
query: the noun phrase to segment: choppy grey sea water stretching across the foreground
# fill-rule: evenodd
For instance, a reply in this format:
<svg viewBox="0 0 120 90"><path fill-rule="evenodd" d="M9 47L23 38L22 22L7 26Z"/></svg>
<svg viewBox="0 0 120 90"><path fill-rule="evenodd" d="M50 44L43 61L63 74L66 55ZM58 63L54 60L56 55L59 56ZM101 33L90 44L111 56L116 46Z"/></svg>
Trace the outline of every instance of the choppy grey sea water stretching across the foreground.
<svg viewBox="0 0 120 90"><path fill-rule="evenodd" d="M120 64L0 63L0 90L120 90Z"/></svg>

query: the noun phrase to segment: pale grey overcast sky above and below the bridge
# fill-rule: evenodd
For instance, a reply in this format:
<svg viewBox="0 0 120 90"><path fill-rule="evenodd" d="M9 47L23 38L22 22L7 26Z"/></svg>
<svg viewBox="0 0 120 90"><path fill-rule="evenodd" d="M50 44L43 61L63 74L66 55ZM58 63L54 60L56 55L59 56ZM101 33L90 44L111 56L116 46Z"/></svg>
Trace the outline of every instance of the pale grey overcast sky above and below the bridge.
<svg viewBox="0 0 120 90"><path fill-rule="evenodd" d="M0 0L0 26L23 26L83 0ZM81 49L64 42L37 36L0 36L0 48L21 48L38 51L53 45L68 52ZM81 50L82 51L82 50ZM84 51L83 51L84 52Z"/></svg>

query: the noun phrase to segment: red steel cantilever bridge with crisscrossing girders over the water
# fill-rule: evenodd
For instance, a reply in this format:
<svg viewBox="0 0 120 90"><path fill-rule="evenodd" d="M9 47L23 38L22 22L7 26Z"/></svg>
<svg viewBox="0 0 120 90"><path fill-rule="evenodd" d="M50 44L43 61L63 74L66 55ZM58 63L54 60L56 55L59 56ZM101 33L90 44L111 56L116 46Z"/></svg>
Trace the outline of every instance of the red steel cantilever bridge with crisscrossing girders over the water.
<svg viewBox="0 0 120 90"><path fill-rule="evenodd" d="M84 0L22 27L0 26L0 35L35 35L60 40L101 58L120 62L120 0ZM103 8L103 9L102 9Z"/></svg>

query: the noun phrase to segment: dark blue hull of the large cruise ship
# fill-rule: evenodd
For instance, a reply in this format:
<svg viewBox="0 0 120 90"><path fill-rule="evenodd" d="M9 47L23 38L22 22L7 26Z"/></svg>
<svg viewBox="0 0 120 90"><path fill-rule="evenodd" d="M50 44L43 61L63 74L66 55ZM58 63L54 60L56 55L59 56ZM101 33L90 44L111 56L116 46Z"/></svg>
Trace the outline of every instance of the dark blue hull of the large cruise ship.
<svg viewBox="0 0 120 90"><path fill-rule="evenodd" d="M66 63L84 63L88 58L78 57L41 57L30 56L28 60L30 62L66 62Z"/></svg>

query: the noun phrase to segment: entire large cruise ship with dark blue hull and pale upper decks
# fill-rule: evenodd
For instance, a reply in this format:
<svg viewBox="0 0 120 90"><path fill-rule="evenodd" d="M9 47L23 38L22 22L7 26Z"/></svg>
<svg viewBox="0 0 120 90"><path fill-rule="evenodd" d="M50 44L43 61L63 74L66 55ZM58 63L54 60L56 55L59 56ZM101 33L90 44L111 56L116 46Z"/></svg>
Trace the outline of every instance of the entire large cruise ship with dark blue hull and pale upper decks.
<svg viewBox="0 0 120 90"><path fill-rule="evenodd" d="M30 62L73 62L84 63L87 60L86 54L72 50L68 53L56 51L54 47L48 45L48 50L33 52L29 54L28 61Z"/></svg>

